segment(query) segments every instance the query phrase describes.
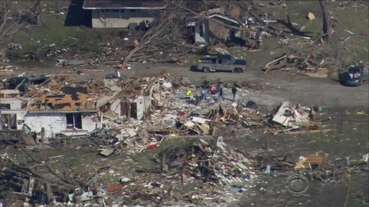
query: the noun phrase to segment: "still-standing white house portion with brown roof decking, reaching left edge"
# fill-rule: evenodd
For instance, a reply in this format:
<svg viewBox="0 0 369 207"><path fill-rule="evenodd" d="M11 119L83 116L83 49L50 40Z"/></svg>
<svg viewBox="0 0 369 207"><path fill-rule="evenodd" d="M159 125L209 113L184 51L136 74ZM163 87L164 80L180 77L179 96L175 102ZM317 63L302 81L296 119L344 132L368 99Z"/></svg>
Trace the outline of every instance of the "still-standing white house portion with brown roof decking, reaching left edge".
<svg viewBox="0 0 369 207"><path fill-rule="evenodd" d="M35 99L19 97L18 90L1 90L0 103L0 130L27 129L49 138L59 133L86 134L98 127L96 110L83 87L63 87L55 95Z"/></svg>

